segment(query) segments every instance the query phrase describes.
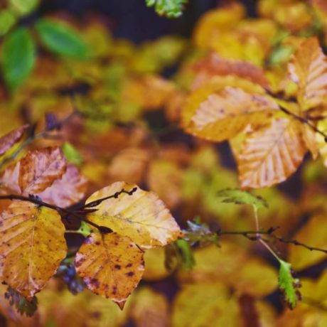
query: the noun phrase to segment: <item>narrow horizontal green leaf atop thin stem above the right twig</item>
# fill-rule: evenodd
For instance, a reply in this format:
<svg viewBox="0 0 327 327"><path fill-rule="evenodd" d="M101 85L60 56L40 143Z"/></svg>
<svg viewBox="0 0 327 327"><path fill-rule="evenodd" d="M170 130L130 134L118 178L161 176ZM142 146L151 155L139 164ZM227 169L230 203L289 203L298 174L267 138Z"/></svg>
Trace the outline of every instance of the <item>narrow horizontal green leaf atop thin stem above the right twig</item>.
<svg viewBox="0 0 327 327"><path fill-rule="evenodd" d="M256 210L259 208L268 208L266 200L248 191L226 189L219 191L217 195L220 198L224 198L222 202L225 203L248 204L252 205Z"/></svg>

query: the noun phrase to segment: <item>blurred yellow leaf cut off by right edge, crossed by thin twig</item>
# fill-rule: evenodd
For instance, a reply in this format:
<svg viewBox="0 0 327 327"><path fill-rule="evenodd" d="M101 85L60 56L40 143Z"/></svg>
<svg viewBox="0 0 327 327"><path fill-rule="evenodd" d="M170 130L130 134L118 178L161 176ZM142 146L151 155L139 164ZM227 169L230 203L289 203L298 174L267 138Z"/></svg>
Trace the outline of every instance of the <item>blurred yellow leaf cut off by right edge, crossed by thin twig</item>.
<svg viewBox="0 0 327 327"><path fill-rule="evenodd" d="M299 230L294 239L311 247L320 247L327 250L326 237L327 220L326 215L315 215L310 218L309 223ZM309 251L304 247L290 245L289 262L294 269L304 269L326 258L326 254L318 251Z"/></svg>

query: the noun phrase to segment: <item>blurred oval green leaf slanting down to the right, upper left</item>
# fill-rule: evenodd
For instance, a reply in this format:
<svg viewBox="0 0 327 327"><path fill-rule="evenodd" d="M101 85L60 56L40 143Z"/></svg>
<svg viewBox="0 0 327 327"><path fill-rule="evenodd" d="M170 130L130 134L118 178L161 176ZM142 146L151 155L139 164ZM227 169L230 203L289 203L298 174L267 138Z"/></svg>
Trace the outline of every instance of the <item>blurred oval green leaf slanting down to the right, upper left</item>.
<svg viewBox="0 0 327 327"><path fill-rule="evenodd" d="M48 50L57 55L85 59L89 53L85 41L73 28L54 19L41 19L36 31Z"/></svg>

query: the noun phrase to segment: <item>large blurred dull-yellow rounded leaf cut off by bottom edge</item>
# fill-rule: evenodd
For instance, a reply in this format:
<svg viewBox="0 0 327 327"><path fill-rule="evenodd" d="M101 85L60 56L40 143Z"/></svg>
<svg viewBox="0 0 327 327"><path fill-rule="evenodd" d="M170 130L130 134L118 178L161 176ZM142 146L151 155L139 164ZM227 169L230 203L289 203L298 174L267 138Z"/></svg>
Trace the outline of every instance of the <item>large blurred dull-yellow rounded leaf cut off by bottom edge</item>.
<svg viewBox="0 0 327 327"><path fill-rule="evenodd" d="M237 300L219 282L187 285L173 302L173 327L238 327Z"/></svg>

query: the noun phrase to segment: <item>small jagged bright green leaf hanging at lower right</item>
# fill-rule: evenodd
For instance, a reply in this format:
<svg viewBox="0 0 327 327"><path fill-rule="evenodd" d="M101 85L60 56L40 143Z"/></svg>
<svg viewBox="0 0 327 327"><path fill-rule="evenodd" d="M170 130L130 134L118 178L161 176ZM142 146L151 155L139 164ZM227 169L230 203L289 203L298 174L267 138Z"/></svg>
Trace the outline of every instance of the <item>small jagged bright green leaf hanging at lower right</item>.
<svg viewBox="0 0 327 327"><path fill-rule="evenodd" d="M279 289L284 295L284 300L290 309L294 309L297 301L301 299L299 287L301 286L299 279L293 277L291 272L291 264L279 259Z"/></svg>

